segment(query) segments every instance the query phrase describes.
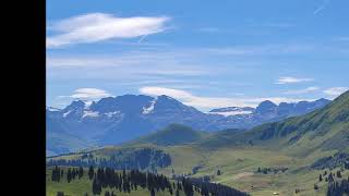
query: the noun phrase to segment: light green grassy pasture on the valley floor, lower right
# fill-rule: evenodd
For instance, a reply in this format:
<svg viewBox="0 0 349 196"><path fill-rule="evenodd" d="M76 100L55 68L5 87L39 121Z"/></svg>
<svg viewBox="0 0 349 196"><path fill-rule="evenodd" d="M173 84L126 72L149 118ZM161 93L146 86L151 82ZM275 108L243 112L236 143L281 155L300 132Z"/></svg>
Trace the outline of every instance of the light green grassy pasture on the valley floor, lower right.
<svg viewBox="0 0 349 196"><path fill-rule="evenodd" d="M290 156L285 151L275 151L268 148L254 147L227 147L214 150L203 150L194 145L181 145L161 147L172 157L172 167L159 170L167 175L188 174L195 166L203 168L193 176L212 176L213 182L230 185L252 195L272 195L274 192L280 195L292 195L296 188L302 189L301 195L324 195L326 184L320 183L320 191L313 189L318 183L318 174L323 171L310 170L309 167L317 158L330 155L330 151L316 151L300 158ZM109 148L109 152L112 148ZM257 168L287 167L289 170L282 174L257 174ZM304 168L304 169L302 169ZM221 175L216 175L217 170ZM336 171L336 170L334 170ZM333 172L334 172L333 171ZM344 172L348 177L348 171ZM251 185L254 187L252 188Z"/></svg>

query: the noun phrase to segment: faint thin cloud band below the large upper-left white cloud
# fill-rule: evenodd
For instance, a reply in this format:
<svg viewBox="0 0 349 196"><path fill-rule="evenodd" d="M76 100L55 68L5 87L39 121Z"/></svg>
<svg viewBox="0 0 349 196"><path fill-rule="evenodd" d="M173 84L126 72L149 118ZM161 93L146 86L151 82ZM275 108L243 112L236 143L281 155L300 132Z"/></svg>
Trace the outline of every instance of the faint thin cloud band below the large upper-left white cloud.
<svg viewBox="0 0 349 196"><path fill-rule="evenodd" d="M202 62L181 61L178 56L163 53L116 54L115 57L49 57L48 76L103 79L168 81L171 76L181 78L217 74ZM81 74L86 73L86 74ZM117 77L116 77L117 76Z"/></svg>

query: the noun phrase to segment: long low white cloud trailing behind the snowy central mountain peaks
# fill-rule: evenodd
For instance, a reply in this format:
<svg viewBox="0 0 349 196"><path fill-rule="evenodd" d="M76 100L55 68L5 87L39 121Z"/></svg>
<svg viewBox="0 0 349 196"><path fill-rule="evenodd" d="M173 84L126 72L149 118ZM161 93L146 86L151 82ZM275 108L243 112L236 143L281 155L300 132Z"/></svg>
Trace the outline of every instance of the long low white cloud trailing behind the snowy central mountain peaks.
<svg viewBox="0 0 349 196"><path fill-rule="evenodd" d="M227 97L201 97L195 96L189 91L165 88L158 86L146 86L140 88L141 94L149 96L161 96L166 95L174 99L180 100L184 105L195 107L202 110L210 110L214 108L224 108L224 107L256 107L260 102L264 100L270 100L275 103L280 102L297 102L304 99L292 99L286 97L261 97L261 98L227 98Z"/></svg>

